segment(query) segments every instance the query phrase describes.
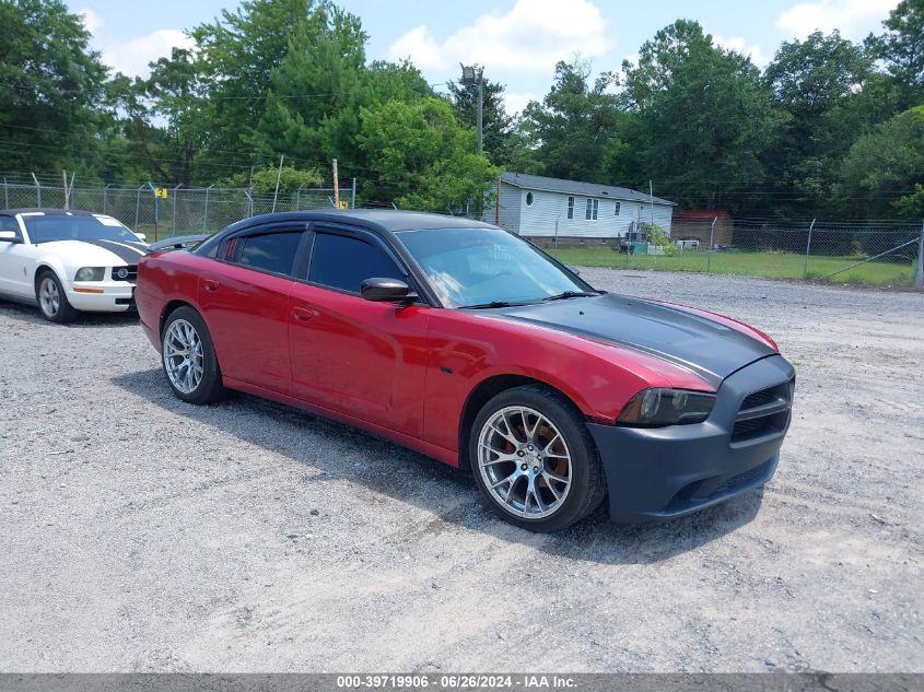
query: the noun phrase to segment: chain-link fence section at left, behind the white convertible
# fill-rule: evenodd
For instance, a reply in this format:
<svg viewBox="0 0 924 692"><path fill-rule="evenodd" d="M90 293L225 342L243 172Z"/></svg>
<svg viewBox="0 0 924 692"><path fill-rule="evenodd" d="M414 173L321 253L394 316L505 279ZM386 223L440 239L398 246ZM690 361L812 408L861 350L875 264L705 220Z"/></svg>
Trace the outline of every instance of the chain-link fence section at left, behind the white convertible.
<svg viewBox="0 0 924 692"><path fill-rule="evenodd" d="M174 235L212 233L229 224L271 211L332 209L332 187L299 188L293 192L259 196L246 188L157 187L152 184L137 188L107 185L105 187L73 187L67 191L58 186L3 180L3 209L51 207L81 209L115 216L132 231L143 233L149 241ZM341 207L355 206L355 181L340 186Z"/></svg>

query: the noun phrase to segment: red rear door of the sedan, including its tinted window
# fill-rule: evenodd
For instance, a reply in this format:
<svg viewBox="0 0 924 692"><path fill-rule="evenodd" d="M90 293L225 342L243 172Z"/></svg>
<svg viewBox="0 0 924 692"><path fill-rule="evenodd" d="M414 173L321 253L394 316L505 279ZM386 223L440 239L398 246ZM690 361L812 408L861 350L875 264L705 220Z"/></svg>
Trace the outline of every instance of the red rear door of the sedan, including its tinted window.
<svg viewBox="0 0 924 692"><path fill-rule="evenodd" d="M289 291L304 223L260 226L226 238L199 278L199 305L222 375L292 392Z"/></svg>

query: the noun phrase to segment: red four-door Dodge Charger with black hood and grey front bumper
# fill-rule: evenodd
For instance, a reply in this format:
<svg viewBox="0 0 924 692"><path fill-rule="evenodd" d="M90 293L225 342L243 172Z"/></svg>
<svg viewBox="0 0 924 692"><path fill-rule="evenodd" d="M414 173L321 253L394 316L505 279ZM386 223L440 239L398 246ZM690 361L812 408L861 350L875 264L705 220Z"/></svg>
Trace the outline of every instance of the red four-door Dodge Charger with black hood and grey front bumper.
<svg viewBox="0 0 924 692"><path fill-rule="evenodd" d="M468 219L255 216L142 258L136 297L184 401L245 391L470 467L535 531L607 496L620 523L723 502L773 476L790 424L763 332L596 291Z"/></svg>

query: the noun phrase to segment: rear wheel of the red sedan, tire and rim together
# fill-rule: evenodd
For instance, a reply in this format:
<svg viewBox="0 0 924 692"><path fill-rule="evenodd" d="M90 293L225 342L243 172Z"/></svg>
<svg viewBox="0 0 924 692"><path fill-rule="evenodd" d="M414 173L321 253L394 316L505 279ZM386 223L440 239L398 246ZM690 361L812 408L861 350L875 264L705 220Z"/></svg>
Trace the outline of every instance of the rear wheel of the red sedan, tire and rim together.
<svg viewBox="0 0 924 692"><path fill-rule="evenodd" d="M171 389L187 403L212 403L227 396L209 328L188 305L164 321L161 364Z"/></svg>

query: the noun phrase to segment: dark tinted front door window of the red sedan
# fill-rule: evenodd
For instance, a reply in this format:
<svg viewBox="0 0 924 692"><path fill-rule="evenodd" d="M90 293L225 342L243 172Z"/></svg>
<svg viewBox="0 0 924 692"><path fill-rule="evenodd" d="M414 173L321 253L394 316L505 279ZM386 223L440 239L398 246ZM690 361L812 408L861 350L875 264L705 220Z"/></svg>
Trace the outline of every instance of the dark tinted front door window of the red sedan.
<svg viewBox="0 0 924 692"><path fill-rule="evenodd" d="M359 293L363 280L373 277L405 280L391 258L374 245L332 233L315 236L308 281Z"/></svg>

